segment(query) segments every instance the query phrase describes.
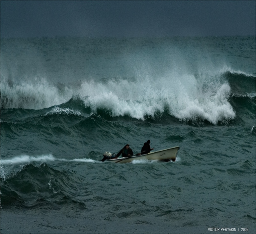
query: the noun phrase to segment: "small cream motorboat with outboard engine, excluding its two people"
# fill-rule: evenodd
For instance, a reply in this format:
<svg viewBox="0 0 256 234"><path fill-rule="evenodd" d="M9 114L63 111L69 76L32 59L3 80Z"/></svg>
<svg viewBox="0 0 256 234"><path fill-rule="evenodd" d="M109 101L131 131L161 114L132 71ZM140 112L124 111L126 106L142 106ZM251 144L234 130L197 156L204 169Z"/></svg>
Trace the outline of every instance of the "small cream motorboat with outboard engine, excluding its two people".
<svg viewBox="0 0 256 234"><path fill-rule="evenodd" d="M147 154L142 155L134 155L132 157L122 157L122 158L113 158L114 155L112 155L109 152L105 152L103 154L103 159L101 161L108 161L108 162L118 162L118 163L127 163L131 162L133 160L141 160L141 159L148 159L148 160L163 160L163 161L175 161L177 152L180 149L179 146L163 149L155 152L150 152ZM112 158L111 158L112 157Z"/></svg>

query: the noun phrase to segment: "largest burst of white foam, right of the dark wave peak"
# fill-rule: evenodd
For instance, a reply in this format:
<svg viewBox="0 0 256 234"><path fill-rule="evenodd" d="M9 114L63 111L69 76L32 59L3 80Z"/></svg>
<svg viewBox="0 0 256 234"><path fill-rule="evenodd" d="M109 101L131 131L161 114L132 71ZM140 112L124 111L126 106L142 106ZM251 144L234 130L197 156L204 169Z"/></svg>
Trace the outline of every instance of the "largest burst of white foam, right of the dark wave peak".
<svg viewBox="0 0 256 234"><path fill-rule="evenodd" d="M144 120L156 112L169 114L181 121L201 118L213 124L233 119L235 112L228 102L230 86L220 79L195 78L193 75L175 75L158 79L108 81L106 84L85 81L79 94L86 107L98 108L111 115L129 115Z"/></svg>

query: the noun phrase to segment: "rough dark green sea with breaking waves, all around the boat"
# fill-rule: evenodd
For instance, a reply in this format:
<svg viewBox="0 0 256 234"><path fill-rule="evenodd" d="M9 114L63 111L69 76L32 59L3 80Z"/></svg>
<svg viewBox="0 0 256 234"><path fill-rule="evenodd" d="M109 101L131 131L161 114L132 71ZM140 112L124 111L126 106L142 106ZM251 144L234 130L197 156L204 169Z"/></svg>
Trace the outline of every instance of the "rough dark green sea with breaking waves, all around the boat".
<svg viewBox="0 0 256 234"><path fill-rule="evenodd" d="M255 233L255 64L250 36L1 39L1 233ZM99 161L148 139L177 160Z"/></svg>

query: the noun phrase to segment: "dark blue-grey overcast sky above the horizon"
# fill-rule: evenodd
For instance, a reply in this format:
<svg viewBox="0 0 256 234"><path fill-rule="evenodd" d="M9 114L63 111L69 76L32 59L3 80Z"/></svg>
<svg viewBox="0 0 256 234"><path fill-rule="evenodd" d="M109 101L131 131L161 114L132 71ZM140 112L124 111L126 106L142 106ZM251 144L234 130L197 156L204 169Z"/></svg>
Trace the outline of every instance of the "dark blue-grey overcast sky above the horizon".
<svg viewBox="0 0 256 234"><path fill-rule="evenodd" d="M255 35L255 1L0 1L1 38Z"/></svg>

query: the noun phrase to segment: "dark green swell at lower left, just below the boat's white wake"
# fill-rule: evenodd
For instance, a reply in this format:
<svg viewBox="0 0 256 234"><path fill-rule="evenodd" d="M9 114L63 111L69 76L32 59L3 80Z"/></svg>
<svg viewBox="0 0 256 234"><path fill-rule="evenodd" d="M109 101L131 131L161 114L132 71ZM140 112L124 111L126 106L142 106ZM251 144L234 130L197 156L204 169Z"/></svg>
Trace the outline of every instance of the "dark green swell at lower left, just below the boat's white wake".
<svg viewBox="0 0 256 234"><path fill-rule="evenodd" d="M83 202L73 197L79 191L75 172L58 171L42 163L28 164L11 178L1 178L1 208L86 209Z"/></svg>

